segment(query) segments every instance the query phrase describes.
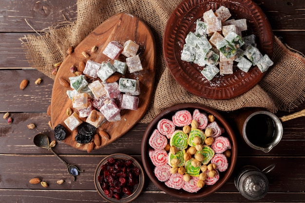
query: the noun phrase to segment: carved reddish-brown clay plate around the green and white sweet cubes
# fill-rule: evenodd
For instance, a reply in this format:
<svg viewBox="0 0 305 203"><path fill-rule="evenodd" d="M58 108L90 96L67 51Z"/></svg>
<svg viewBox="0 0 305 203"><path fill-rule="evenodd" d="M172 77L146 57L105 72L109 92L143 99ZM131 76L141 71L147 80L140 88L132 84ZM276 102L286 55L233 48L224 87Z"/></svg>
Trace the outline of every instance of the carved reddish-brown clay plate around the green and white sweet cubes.
<svg viewBox="0 0 305 203"><path fill-rule="evenodd" d="M273 33L267 17L261 8L251 0L183 0L172 12L163 39L163 54L166 64L176 81L187 91L208 99L230 99L241 95L254 87L266 73L252 66L248 73L239 70L234 63L233 74L217 74L208 81L194 63L181 60L185 37L194 32L196 20L203 19L203 13L220 6L229 8L229 19L247 19L248 30L243 36L254 34L257 48L264 55L272 56Z"/></svg>

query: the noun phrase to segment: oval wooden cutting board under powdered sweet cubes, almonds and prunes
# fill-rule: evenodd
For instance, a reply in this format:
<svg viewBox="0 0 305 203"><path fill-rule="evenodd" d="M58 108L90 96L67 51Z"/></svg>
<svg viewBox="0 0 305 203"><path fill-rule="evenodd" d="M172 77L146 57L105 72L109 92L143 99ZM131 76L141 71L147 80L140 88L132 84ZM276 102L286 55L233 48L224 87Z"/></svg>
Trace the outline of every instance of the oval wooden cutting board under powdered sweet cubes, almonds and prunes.
<svg viewBox="0 0 305 203"><path fill-rule="evenodd" d="M66 91L72 90L72 88L63 87L59 83L58 78L63 78L69 82L69 77L76 76L70 72L70 67L74 65L78 68L79 61L86 63L86 61L90 59L99 63L103 61L110 61L113 63L112 59L102 54L102 51L110 41L116 40L121 44L124 44L124 42L129 39L139 44L138 54L144 69L133 74L130 74L127 71L124 75L126 78L133 78L140 81L141 93L139 95L139 106L136 111L122 110L120 112L120 121L103 123L96 132L100 129L104 129L109 133L110 140L106 141L103 139L102 145L100 147L95 147L95 149L114 142L114 140L133 128L142 118L150 104L153 93L156 61L155 42L152 31L140 18L127 13L119 13L100 24L91 34L82 40L77 47L75 47L74 52L71 55L68 55L60 65L54 81L51 99L51 122L53 127L61 124L66 128L63 121L68 117L66 114L66 109L68 107L77 112L76 109L72 108L72 101L66 94ZM93 46L97 46L98 49L95 53L91 54L90 50ZM85 58L81 54L83 51L87 52L90 57ZM64 143L73 148L87 150L87 144L76 147L77 143L74 136L72 136L71 130L66 128L66 131L68 136L63 140Z"/></svg>

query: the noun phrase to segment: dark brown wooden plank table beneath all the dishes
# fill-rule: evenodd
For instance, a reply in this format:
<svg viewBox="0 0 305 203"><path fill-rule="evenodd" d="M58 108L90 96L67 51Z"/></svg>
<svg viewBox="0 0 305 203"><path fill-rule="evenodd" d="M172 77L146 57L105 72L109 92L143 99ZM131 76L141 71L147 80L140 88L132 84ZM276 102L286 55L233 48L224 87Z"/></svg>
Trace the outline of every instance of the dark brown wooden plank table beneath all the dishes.
<svg viewBox="0 0 305 203"><path fill-rule="evenodd" d="M305 54L305 1L254 0L269 19L274 34L291 48ZM137 124L126 135L105 148L80 151L58 142L54 150L67 162L85 172L74 182L65 166L46 149L33 144L38 132L53 137L47 115L51 102L53 80L29 67L19 37L34 34L25 19L38 32L53 23L76 19L76 0L1 0L0 1L0 203L84 203L103 202L94 185L95 166L108 154L126 153L141 160L141 140L146 124ZM41 77L42 83L35 85ZM29 79L29 86L19 90L21 80ZM293 110L305 109L305 104ZM11 125L2 119L10 112ZM230 117L234 112L222 112ZM291 113L291 112L290 112ZM278 112L278 116L288 112ZM34 123L36 129L28 129ZM234 126L234 124L232 123ZM237 133L238 167L254 165L261 169L270 164L276 167L267 174L270 186L259 202L305 202L305 117L283 124L281 143L269 153L249 148ZM134 202L249 202L234 186L233 174L214 195L205 199L182 200L160 191L146 177L143 192ZM29 180L39 177L49 187L31 185ZM64 179L57 185L58 179Z"/></svg>

